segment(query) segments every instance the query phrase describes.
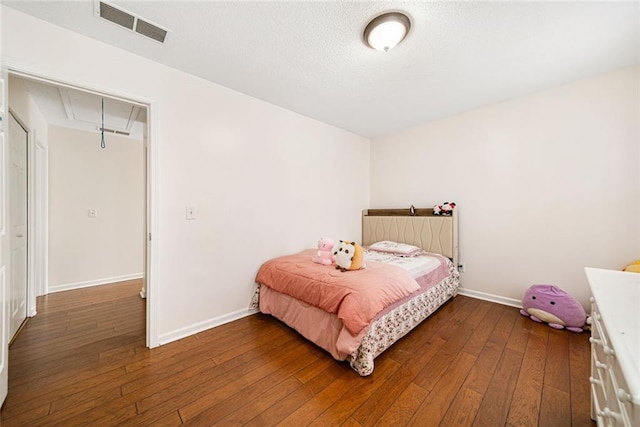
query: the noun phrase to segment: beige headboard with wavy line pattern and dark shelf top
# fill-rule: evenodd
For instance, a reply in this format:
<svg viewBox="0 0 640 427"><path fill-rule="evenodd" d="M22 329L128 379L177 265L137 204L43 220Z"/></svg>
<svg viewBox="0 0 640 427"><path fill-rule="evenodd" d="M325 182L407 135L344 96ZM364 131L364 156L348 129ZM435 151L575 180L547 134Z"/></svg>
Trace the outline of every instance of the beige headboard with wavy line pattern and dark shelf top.
<svg viewBox="0 0 640 427"><path fill-rule="evenodd" d="M362 244L392 240L442 254L458 267L458 208L453 215L434 215L433 209L365 209Z"/></svg>

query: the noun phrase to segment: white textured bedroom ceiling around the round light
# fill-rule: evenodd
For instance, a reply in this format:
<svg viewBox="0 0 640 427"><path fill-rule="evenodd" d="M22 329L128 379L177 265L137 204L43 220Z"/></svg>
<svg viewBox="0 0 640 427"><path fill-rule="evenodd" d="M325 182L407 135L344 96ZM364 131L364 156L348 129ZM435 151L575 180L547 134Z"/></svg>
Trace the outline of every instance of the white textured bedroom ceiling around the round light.
<svg viewBox="0 0 640 427"><path fill-rule="evenodd" d="M638 1L114 1L169 30L161 44L95 2L3 4L238 92L375 138L640 63ZM367 22L406 12L388 53Z"/></svg>

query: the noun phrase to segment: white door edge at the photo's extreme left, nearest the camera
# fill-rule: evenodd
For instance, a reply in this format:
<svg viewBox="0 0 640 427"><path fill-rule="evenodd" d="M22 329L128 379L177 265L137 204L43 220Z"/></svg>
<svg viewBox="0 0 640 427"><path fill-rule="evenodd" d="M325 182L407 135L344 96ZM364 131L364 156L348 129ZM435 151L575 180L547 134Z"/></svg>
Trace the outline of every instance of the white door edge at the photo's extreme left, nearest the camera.
<svg viewBox="0 0 640 427"><path fill-rule="evenodd" d="M9 150L7 149L7 73L0 71L0 406L7 397L9 385L9 314L7 310L7 280L9 269L9 236L6 229L6 208L8 204L6 191L6 171Z"/></svg>

